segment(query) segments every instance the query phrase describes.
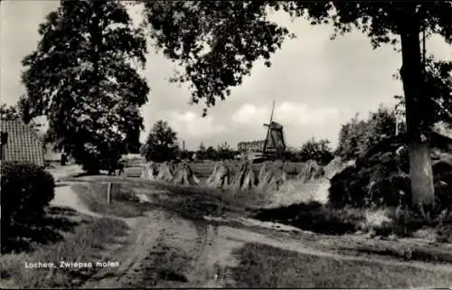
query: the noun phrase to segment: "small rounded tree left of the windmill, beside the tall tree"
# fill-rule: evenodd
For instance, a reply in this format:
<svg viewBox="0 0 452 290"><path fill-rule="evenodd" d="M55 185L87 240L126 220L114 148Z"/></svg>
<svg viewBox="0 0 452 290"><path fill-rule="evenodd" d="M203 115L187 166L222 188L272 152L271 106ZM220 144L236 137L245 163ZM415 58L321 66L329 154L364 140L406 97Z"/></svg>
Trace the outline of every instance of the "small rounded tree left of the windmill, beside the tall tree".
<svg viewBox="0 0 452 290"><path fill-rule="evenodd" d="M177 134L167 122L159 120L149 132L145 145L141 147L141 154L146 161L164 162L174 160L178 150Z"/></svg>

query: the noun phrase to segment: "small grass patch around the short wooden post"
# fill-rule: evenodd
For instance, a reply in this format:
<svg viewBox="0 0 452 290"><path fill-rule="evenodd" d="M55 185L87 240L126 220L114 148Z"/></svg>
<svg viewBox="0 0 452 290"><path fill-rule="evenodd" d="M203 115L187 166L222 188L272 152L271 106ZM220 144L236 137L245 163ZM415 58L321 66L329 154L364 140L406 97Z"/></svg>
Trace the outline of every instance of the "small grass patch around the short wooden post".
<svg viewBox="0 0 452 290"><path fill-rule="evenodd" d="M121 218L133 218L149 210L149 205L139 202L131 186L123 183L114 183L111 190L111 203L107 203L108 184L88 182L73 185L74 192L86 204L89 210L101 214Z"/></svg>

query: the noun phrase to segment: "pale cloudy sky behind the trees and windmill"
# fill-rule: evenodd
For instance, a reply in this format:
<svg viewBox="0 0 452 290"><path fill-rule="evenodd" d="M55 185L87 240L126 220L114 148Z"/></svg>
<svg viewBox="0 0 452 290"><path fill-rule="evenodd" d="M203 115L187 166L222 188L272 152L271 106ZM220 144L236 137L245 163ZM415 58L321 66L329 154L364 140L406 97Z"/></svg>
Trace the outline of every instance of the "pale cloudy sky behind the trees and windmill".
<svg viewBox="0 0 452 290"><path fill-rule="evenodd" d="M40 41L38 25L60 4L6 0L0 5L0 99L13 105L25 93L21 61ZM130 14L136 23L142 19L139 8ZM333 27L292 21L283 13L269 19L286 26L297 38L283 43L270 68L257 61L251 76L231 90L230 98L210 108L207 117L202 117L202 105L189 105L187 86L169 82L174 64L150 49L142 71L151 93L142 108L141 141L160 119L173 127L187 149L224 142L235 147L240 141L264 139L263 123L268 122L274 100L274 120L284 126L287 145L297 147L315 137L329 139L334 147L341 124L356 113L367 117L380 104L393 106L393 96L402 94L400 80L392 77L400 69L401 55L390 45L373 50L358 31L331 41ZM428 40L427 51L438 59L452 60L452 46L438 36Z"/></svg>

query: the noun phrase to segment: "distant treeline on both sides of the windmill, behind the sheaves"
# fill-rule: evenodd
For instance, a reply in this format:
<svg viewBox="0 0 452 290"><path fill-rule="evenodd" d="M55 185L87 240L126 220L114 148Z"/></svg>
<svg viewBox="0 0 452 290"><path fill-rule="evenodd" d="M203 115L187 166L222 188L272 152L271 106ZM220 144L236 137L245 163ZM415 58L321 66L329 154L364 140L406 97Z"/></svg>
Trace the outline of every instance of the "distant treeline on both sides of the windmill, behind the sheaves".
<svg viewBox="0 0 452 290"><path fill-rule="evenodd" d="M383 105L371 112L367 119L360 120L356 114L342 125L335 150L330 146L330 140L317 139L313 136L298 148L288 148L283 153L283 159L290 162L315 160L318 164L328 164L336 156L344 161L356 159L382 139L396 135L396 114L396 108L386 108ZM216 147L201 143L197 150L184 150L180 145L177 132L174 132L166 121L159 120L149 132L140 153L148 162L193 160L193 156L196 160L232 160L242 153L231 148L226 141Z"/></svg>

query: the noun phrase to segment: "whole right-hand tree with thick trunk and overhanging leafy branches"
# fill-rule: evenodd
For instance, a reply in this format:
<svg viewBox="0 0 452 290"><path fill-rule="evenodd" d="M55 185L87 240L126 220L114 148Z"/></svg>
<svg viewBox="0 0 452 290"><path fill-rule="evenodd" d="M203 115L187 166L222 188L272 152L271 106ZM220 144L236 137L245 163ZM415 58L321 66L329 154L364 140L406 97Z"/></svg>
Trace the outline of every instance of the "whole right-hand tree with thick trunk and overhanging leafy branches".
<svg viewBox="0 0 452 290"><path fill-rule="evenodd" d="M434 202L428 139L432 114L424 86L419 34L438 33L452 43L450 1L147 1L146 21L156 46L184 68L175 81L189 82L193 102L207 108L224 99L231 87L250 74L260 58L270 65L289 33L269 22L268 12L280 10L305 17L311 24L332 23L334 35L353 28L368 36L374 48L400 43L401 80L406 99L407 135L410 140L410 180L413 204Z"/></svg>

